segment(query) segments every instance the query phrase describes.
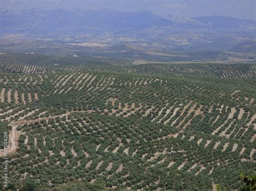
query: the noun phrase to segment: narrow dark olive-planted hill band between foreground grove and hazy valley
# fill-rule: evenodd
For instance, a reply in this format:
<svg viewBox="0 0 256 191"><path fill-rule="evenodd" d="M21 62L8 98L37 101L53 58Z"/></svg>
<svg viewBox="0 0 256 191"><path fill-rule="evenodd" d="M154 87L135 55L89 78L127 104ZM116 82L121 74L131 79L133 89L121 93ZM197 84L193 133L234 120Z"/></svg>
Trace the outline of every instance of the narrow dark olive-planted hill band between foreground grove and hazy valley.
<svg viewBox="0 0 256 191"><path fill-rule="evenodd" d="M248 62L155 61L104 56L46 56L0 54L1 73L43 74L53 72L106 71L131 74L193 75L255 79L256 66Z"/></svg>

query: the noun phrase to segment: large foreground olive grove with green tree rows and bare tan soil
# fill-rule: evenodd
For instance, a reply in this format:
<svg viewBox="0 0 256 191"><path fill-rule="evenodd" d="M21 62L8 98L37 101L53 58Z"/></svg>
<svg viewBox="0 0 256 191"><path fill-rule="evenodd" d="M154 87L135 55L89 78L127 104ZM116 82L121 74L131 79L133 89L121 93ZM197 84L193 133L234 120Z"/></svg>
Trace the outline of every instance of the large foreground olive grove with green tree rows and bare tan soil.
<svg viewBox="0 0 256 191"><path fill-rule="evenodd" d="M78 181L234 190L239 172L255 173L255 63L2 63L0 70L10 189Z"/></svg>

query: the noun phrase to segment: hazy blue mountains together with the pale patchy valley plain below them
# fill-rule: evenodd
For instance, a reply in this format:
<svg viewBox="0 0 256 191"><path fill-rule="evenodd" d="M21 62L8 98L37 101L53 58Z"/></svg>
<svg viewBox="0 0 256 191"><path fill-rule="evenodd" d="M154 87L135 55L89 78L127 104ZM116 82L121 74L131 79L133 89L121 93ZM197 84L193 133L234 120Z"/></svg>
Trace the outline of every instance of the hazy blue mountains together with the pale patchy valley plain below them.
<svg viewBox="0 0 256 191"><path fill-rule="evenodd" d="M255 53L256 22L151 11L43 10L0 13L0 51L58 54L228 51ZM210 53L211 55L211 53ZM218 55L218 53L217 53ZM129 56L129 55L127 55Z"/></svg>

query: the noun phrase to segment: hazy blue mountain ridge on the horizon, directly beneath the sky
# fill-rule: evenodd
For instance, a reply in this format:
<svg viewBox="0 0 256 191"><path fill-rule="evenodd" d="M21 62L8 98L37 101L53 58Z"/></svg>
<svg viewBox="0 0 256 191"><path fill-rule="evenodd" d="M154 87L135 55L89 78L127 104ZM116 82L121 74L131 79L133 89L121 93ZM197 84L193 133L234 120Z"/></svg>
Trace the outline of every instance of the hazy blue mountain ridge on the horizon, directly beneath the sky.
<svg viewBox="0 0 256 191"><path fill-rule="evenodd" d="M8 33L127 33L152 27L180 30L202 29L212 23L211 30L255 32L254 20L209 16L193 18L161 17L150 11L120 12L114 10L42 10L32 9L1 13L1 34Z"/></svg>

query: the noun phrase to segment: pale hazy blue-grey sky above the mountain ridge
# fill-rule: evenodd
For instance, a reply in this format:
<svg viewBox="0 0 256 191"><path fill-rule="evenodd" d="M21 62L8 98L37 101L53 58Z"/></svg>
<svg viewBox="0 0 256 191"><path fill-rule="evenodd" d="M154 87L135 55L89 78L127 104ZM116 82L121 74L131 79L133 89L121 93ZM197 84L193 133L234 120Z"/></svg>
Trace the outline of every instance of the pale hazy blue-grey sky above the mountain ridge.
<svg viewBox="0 0 256 191"><path fill-rule="evenodd" d="M184 17L221 15L256 20L255 0L0 0L1 8L151 10L158 15Z"/></svg>

